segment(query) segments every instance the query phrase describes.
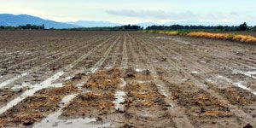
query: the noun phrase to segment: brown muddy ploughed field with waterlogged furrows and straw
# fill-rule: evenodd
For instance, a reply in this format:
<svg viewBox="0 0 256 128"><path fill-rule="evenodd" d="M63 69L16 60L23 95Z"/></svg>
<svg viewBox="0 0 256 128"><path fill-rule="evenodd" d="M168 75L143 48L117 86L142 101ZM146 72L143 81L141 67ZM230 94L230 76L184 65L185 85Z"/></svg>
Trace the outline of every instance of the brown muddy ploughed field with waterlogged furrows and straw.
<svg viewBox="0 0 256 128"><path fill-rule="evenodd" d="M2 127L256 127L256 45L0 32Z"/></svg>

